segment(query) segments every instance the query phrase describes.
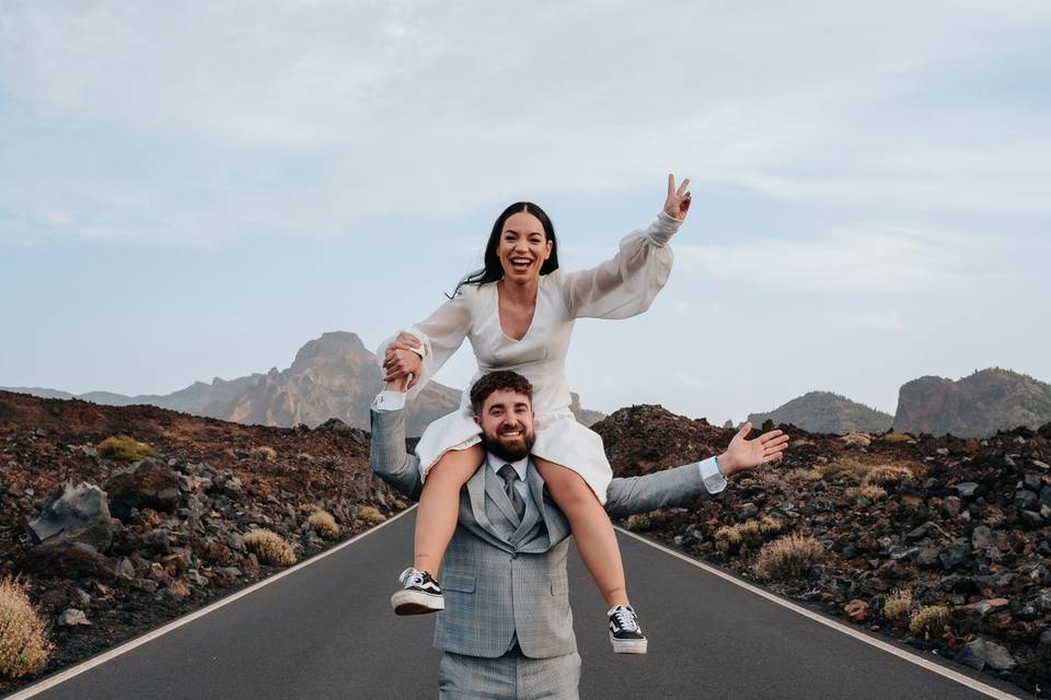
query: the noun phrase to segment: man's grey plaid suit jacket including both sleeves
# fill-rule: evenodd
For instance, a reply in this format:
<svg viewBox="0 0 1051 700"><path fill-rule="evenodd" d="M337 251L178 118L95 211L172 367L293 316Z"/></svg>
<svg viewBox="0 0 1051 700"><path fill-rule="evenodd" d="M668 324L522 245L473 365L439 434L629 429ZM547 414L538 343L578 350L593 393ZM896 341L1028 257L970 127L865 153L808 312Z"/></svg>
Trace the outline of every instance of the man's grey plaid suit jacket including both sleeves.
<svg viewBox="0 0 1051 700"><path fill-rule="evenodd" d="M404 410L372 410L370 463L392 487L419 498L419 460L405 452ZM532 462L526 480L532 498L521 522L492 469L478 469L460 492L459 522L441 568L446 609L437 616L436 648L494 658L517 634L531 658L576 651L566 572L569 524ZM697 465L690 464L613 479L605 510L621 517L707 492Z"/></svg>

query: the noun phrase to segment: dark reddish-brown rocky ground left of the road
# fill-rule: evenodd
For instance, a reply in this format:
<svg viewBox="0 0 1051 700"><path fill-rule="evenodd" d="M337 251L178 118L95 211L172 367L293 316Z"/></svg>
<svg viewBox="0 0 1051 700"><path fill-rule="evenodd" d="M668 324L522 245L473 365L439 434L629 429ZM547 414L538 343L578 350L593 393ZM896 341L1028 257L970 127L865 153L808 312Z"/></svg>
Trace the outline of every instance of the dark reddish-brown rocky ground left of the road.
<svg viewBox="0 0 1051 700"><path fill-rule="evenodd" d="M106 456L117 434L155 454ZM250 550L253 529L303 559L404 509L368 454L368 434L338 421L252 427L0 392L0 578L30 583L56 644L39 674L0 677L0 696L279 570ZM338 534L308 522L317 509Z"/></svg>

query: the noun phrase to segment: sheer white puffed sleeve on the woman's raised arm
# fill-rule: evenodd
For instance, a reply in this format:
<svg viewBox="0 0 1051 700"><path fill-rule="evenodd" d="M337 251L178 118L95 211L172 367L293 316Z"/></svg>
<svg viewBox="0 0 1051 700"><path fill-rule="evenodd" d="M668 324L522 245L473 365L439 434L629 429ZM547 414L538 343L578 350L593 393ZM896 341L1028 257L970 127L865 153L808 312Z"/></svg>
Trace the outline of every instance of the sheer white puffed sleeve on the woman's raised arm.
<svg viewBox="0 0 1051 700"><path fill-rule="evenodd" d="M652 303L671 273L668 241L682 224L661 211L645 231L621 240L612 260L563 276L563 294L574 318L627 318Z"/></svg>

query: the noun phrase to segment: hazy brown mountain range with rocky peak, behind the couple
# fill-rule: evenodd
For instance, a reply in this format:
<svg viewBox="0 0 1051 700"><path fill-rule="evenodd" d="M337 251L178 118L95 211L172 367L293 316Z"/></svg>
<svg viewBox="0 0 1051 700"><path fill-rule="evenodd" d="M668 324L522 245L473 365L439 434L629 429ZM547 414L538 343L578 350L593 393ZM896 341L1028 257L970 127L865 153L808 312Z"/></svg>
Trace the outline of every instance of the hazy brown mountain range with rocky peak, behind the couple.
<svg viewBox="0 0 1051 700"><path fill-rule="evenodd" d="M382 375L376 354L357 334L326 332L304 345L287 370L235 380L216 377L210 384L193 385L166 395L124 396L111 392L91 392L73 396L42 387L11 387L13 392L42 398L80 398L107 406L146 404L194 416L217 418L250 425L314 428L337 418L351 428L368 430L369 404L380 390ZM4 387L0 387L2 389ZM460 389L430 382L412 402L407 431L418 436L435 419L460 406ZM580 407L573 395L577 420L590 425L603 413Z"/></svg>

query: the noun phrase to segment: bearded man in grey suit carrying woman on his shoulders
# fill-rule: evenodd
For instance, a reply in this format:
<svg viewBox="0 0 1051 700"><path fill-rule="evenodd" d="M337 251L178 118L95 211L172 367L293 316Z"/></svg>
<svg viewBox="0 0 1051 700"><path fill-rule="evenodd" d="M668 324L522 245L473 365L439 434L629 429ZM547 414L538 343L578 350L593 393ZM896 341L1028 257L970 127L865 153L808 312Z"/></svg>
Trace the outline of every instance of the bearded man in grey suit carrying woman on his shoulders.
<svg viewBox="0 0 1051 700"><path fill-rule="evenodd" d="M460 493L459 523L441 568L444 609L434 638L446 652L440 698L578 697L580 656L566 571L571 533L529 459L531 398L529 382L515 372L486 374L471 387L486 459ZM391 387L377 396L370 463L384 481L416 499L423 483L418 459L405 453L403 407L404 395ZM787 446L779 430L747 441L750 431L746 423L718 457L613 479L607 511L622 517L717 493L725 477L772 462ZM409 593L430 593L423 582L405 583ZM616 620L610 633L626 644L644 639Z"/></svg>

